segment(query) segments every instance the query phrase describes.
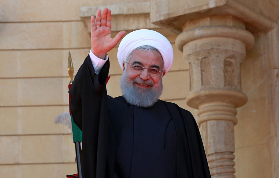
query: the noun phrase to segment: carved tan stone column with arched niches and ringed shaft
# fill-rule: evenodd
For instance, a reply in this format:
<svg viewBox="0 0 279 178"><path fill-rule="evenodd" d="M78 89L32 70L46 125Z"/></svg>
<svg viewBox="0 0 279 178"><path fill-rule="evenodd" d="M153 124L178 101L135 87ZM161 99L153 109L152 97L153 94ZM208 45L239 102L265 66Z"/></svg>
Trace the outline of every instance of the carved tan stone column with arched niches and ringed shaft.
<svg viewBox="0 0 279 178"><path fill-rule="evenodd" d="M202 24L202 25L201 25ZM198 109L197 123L212 178L235 177L234 125L237 110L247 102L241 91L240 65L254 37L233 16L210 16L187 21L176 46L189 62L190 95Z"/></svg>

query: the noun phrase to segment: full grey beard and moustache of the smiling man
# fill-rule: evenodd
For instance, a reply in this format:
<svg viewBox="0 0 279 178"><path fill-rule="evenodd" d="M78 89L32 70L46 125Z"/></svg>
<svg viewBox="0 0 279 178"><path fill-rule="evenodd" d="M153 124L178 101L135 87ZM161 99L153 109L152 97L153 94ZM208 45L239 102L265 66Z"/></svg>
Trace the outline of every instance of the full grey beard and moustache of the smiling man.
<svg viewBox="0 0 279 178"><path fill-rule="evenodd" d="M149 89L135 87L134 82L150 84L152 87ZM158 101L158 98L163 91L162 78L160 79L160 82L157 84L157 86L154 86L154 83L151 79L148 81L143 81L142 79L136 78L130 81L127 76L126 69L122 74L120 87L126 101L131 105L140 107L152 106Z"/></svg>

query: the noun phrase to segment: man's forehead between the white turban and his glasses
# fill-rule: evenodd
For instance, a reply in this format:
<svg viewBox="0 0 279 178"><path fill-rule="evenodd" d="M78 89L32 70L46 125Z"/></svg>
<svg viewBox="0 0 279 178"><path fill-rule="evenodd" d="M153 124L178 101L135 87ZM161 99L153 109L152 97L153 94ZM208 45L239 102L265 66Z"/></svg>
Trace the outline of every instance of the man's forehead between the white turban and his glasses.
<svg viewBox="0 0 279 178"><path fill-rule="evenodd" d="M130 63L135 61L141 62L144 66L158 65L162 67L163 59L160 53L157 51L144 51L136 49L131 53Z"/></svg>

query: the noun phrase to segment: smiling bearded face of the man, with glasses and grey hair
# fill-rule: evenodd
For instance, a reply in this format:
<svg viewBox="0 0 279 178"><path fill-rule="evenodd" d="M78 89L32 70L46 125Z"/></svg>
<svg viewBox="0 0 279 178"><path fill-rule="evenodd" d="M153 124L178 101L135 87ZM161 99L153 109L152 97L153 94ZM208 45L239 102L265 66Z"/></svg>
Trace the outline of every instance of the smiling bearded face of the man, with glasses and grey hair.
<svg viewBox="0 0 279 178"><path fill-rule="evenodd" d="M156 48L140 46L128 55L126 61L120 82L124 98L135 106L152 106L163 91L165 72L162 55Z"/></svg>

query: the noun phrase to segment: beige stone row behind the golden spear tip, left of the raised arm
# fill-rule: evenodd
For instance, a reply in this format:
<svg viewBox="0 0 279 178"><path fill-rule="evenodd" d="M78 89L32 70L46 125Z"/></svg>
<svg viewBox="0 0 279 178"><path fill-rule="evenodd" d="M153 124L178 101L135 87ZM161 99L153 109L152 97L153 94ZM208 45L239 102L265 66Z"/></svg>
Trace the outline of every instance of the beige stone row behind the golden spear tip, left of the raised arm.
<svg viewBox="0 0 279 178"><path fill-rule="evenodd" d="M88 37L89 38L89 37ZM68 52L71 52L75 73L89 53L88 49L0 51L0 77L68 76Z"/></svg>

